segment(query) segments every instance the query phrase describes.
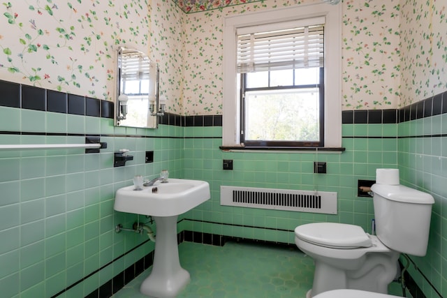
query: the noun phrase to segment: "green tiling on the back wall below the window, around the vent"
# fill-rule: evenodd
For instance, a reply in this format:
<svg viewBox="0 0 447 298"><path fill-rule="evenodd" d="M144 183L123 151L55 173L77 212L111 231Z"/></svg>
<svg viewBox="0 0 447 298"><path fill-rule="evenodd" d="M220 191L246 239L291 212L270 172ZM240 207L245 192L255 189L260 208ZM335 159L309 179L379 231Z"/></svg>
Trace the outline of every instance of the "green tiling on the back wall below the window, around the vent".
<svg viewBox="0 0 447 298"><path fill-rule="evenodd" d="M343 153L221 151L221 131L185 128L184 177L210 182L211 200L184 214L187 228L218 231L233 237L294 243L297 225L334 221L361 225L369 231L374 210L370 198L357 197L358 179L375 179L377 167L397 167L397 124L344 124ZM233 170L222 160L233 159ZM327 162L327 174L314 174L314 161ZM220 186L285 188L338 193L338 214L220 206ZM207 222L204 225L196 221ZM204 230L206 228L206 230Z"/></svg>

